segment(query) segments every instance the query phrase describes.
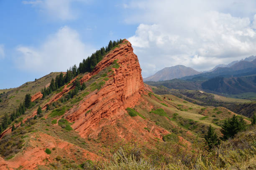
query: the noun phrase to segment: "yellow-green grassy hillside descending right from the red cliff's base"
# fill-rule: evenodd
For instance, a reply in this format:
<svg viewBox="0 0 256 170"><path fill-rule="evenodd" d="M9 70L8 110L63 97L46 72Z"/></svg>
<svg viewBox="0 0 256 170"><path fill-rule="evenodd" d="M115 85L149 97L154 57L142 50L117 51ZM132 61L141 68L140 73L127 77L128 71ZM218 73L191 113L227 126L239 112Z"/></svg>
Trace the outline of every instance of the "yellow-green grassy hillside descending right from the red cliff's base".
<svg viewBox="0 0 256 170"><path fill-rule="evenodd" d="M156 125L165 128L170 133L182 136L190 142L194 142L195 136L202 141L209 125L217 129L217 133L220 135L219 129L222 121L233 115L225 107L203 107L174 95L158 96L161 100L154 95L143 96L144 102L137 105L135 109L146 119L154 121ZM153 107L153 110L157 108L164 109L166 115L150 112L149 108L151 107Z"/></svg>

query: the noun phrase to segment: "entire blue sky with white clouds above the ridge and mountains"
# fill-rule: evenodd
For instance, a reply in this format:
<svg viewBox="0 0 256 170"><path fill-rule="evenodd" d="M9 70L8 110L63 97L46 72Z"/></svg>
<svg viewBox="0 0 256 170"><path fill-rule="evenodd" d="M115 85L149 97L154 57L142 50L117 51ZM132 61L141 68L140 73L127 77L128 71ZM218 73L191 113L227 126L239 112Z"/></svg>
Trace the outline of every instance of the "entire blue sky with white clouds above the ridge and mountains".
<svg viewBox="0 0 256 170"><path fill-rule="evenodd" d="M256 55L253 0L0 0L0 89L66 71L127 38L143 77L178 64L210 70Z"/></svg>

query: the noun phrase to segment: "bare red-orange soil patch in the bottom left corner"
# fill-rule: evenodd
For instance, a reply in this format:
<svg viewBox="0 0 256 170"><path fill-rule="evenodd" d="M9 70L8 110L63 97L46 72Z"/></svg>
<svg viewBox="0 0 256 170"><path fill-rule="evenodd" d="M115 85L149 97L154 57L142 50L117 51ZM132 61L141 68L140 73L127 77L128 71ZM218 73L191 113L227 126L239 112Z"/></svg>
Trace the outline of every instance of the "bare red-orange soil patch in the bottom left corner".
<svg viewBox="0 0 256 170"><path fill-rule="evenodd" d="M36 135L31 135L30 138L29 147L15 155L12 160L5 161L0 157L0 170L14 170L20 166L23 167L22 170L34 170L38 165L45 165L47 161L44 160L51 163L60 153L65 153L67 158L74 160L74 150L80 150L85 155L85 159L97 160L98 158L94 153L44 133L41 133L39 138ZM50 155L46 154L46 148L52 151ZM52 148L56 148L56 150L54 151Z"/></svg>

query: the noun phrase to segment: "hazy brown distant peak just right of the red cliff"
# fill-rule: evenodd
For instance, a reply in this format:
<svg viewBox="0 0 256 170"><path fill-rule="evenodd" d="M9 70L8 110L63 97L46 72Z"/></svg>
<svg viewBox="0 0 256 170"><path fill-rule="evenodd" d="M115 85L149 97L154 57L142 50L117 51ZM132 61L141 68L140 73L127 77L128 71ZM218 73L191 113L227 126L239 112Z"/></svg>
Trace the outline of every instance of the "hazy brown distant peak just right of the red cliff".
<svg viewBox="0 0 256 170"><path fill-rule="evenodd" d="M161 81L161 80L172 80L174 78L181 78L189 75L200 74L190 67L184 65L176 65L173 67L165 67L164 69L156 72L154 75L146 77L143 81Z"/></svg>

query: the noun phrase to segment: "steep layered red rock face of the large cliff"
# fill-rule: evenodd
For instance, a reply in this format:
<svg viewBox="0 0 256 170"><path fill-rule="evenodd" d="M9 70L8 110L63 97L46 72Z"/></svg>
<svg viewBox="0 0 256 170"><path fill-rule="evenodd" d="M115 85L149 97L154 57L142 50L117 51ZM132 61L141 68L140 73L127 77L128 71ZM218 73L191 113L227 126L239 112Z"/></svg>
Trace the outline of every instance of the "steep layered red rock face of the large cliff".
<svg viewBox="0 0 256 170"><path fill-rule="evenodd" d="M67 113L67 120L74 122L72 128L82 137L96 138L105 125L113 124L122 117L127 107L138 103L146 94L138 57L133 53L131 43L124 40L120 47L110 51L94 71L84 75L81 83L89 80L104 68L117 62L120 67L112 67L113 74L100 90L95 90L84 98L78 108Z"/></svg>

